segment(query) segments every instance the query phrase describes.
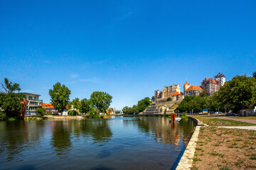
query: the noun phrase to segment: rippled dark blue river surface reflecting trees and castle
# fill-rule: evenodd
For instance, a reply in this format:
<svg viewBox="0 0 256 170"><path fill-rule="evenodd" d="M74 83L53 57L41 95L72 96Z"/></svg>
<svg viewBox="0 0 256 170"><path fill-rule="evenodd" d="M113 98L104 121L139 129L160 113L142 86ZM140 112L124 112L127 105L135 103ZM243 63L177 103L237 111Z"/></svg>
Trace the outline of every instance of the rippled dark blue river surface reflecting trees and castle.
<svg viewBox="0 0 256 170"><path fill-rule="evenodd" d="M196 125L169 118L0 122L0 169L174 169Z"/></svg>

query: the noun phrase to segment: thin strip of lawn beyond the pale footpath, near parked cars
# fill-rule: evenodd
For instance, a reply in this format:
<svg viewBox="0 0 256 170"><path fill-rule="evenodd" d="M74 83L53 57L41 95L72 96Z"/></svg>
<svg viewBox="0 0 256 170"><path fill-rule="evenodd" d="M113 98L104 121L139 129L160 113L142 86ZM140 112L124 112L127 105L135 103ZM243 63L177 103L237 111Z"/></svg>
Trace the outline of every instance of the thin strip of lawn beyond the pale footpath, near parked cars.
<svg viewBox="0 0 256 170"><path fill-rule="evenodd" d="M235 120L225 120L225 119L218 119L208 116L201 116L201 115L193 115L193 118L197 118L198 120L206 123L210 126L252 126L256 125L255 123L245 123Z"/></svg>

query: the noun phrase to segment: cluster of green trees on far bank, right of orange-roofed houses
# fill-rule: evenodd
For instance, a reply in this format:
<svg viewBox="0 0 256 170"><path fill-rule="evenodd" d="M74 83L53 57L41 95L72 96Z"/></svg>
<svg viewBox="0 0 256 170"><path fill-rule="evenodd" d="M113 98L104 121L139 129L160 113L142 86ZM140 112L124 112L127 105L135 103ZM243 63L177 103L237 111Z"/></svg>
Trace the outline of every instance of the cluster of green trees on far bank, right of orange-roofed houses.
<svg viewBox="0 0 256 170"><path fill-rule="evenodd" d="M102 91L94 91L90 99L84 98L80 100L79 98L75 98L71 102L70 94L70 89L65 85L61 85L59 82L53 85L53 89L49 90L50 101L59 112L63 112L66 106L68 106L69 109L73 110L70 112L72 114L76 114L76 112L90 114L106 113L107 108L110 107L110 103L112 102L112 96Z"/></svg>

